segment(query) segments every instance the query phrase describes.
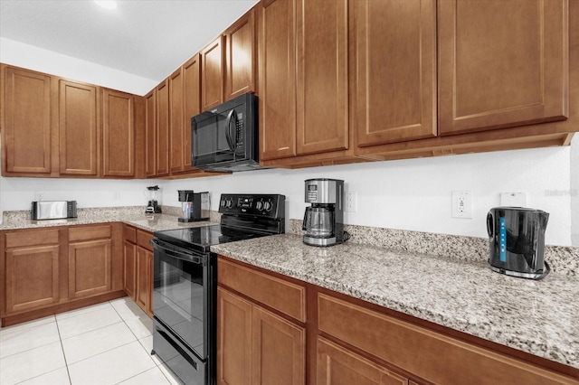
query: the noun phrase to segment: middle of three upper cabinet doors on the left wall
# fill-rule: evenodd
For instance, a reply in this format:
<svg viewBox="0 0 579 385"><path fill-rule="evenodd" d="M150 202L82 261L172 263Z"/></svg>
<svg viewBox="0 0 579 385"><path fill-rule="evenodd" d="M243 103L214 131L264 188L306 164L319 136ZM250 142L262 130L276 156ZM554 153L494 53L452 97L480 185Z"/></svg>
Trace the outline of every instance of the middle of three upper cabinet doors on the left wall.
<svg viewBox="0 0 579 385"><path fill-rule="evenodd" d="M60 80L60 174L97 175L99 92L96 86Z"/></svg>

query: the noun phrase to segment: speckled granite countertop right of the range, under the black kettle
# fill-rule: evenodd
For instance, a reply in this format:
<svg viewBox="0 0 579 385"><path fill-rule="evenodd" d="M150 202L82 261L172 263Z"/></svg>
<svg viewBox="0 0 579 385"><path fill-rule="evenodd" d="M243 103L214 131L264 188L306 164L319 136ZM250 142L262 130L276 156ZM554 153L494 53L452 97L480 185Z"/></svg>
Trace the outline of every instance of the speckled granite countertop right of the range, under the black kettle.
<svg viewBox="0 0 579 385"><path fill-rule="evenodd" d="M477 260L281 234L212 251L579 369L579 279L491 272Z"/></svg>

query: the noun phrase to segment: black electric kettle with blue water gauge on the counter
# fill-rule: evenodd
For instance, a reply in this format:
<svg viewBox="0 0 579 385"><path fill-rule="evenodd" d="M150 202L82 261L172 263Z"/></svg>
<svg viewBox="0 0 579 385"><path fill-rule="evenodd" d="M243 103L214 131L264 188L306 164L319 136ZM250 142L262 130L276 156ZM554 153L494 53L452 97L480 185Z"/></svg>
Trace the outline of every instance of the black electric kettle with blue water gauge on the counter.
<svg viewBox="0 0 579 385"><path fill-rule="evenodd" d="M513 277L542 279L550 268L545 260L546 211L495 207L487 215L490 269Z"/></svg>

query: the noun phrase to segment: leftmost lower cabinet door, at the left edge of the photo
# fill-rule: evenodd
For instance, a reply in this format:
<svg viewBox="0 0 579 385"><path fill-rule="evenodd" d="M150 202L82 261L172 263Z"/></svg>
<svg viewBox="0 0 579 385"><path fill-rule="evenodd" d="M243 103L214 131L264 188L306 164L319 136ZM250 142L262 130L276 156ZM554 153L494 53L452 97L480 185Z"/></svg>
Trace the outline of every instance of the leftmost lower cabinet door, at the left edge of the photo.
<svg viewBox="0 0 579 385"><path fill-rule="evenodd" d="M6 314L59 301L59 246L6 250Z"/></svg>

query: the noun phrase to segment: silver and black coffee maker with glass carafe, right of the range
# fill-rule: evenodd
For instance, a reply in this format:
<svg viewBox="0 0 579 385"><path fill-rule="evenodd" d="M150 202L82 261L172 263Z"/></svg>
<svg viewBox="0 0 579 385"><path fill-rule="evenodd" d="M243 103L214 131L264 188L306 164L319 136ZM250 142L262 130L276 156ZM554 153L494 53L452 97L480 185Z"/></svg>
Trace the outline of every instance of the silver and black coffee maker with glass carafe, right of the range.
<svg viewBox="0 0 579 385"><path fill-rule="evenodd" d="M344 181L308 179L305 200L311 206L304 214L304 243L327 247L344 242Z"/></svg>

